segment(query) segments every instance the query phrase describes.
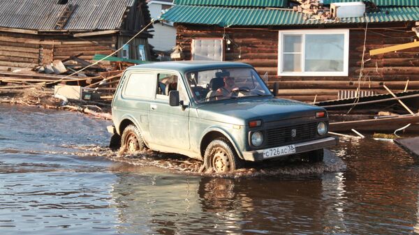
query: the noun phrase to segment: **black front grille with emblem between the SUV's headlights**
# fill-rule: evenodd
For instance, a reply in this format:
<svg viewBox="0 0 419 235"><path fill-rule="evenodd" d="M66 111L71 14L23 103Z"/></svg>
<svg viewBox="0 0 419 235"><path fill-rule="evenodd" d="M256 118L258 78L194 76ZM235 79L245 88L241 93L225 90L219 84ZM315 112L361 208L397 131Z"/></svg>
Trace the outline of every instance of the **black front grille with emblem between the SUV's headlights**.
<svg viewBox="0 0 419 235"><path fill-rule="evenodd" d="M292 132L295 130L295 137ZM302 123L294 126L284 126L267 130L267 146L274 147L292 144L306 139L314 139L317 136L317 123Z"/></svg>

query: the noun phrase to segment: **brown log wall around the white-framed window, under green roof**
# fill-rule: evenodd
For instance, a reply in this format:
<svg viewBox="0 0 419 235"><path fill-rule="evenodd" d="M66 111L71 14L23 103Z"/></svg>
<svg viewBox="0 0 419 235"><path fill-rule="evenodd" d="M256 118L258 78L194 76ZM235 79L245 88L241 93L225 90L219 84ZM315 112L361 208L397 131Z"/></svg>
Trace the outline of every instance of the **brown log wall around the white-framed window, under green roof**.
<svg viewBox="0 0 419 235"><path fill-rule="evenodd" d="M387 27L388 25L385 25ZM404 24L403 24L404 26ZM397 29L377 28L367 31L365 64L361 63L364 45L364 29L350 29L348 77L285 77L277 75L278 29L223 29L211 26L177 26L177 44L182 45L185 60L191 59L191 39L222 38L226 33L233 40L233 47L226 51L226 61L249 63L260 75L269 76L268 85L272 89L279 82L279 96L302 101L335 100L339 90L362 90L387 93L385 83L394 91L402 91L409 79L408 90L419 89L419 47L369 56L369 50L402 43L411 43L416 33L411 28L394 25ZM321 29L318 29L321 30ZM358 82L360 81L360 82Z"/></svg>

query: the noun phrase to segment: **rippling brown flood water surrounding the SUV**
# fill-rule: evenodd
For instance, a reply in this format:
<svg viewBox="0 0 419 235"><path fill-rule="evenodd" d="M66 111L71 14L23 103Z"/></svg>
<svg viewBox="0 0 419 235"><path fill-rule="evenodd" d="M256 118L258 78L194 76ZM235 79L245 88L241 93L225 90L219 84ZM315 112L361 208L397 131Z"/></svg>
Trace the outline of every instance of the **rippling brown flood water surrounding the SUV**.
<svg viewBox="0 0 419 235"><path fill-rule="evenodd" d="M416 234L419 165L392 142L230 176L159 153L117 157L110 122L0 105L0 234Z"/></svg>

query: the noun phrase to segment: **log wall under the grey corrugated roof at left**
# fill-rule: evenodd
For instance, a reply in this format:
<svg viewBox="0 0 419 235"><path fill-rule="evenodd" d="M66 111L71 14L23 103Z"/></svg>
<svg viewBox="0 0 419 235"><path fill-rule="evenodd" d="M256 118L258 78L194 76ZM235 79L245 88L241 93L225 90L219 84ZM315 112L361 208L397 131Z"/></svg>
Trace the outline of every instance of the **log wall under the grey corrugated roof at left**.
<svg viewBox="0 0 419 235"><path fill-rule="evenodd" d="M91 61L94 54L110 54L116 46L115 35L73 38L0 32L0 70L35 68L80 53L80 59Z"/></svg>

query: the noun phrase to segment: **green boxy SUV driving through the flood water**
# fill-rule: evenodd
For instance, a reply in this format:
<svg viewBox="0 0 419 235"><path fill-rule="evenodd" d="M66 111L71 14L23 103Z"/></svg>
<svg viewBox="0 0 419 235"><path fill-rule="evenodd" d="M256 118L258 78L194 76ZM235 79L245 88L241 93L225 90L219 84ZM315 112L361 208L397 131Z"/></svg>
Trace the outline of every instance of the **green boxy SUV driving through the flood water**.
<svg viewBox="0 0 419 235"><path fill-rule="evenodd" d="M213 172L272 158L318 162L323 148L337 144L325 109L274 98L245 63L132 66L112 100L112 120L111 147L180 153Z"/></svg>

